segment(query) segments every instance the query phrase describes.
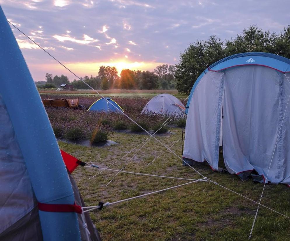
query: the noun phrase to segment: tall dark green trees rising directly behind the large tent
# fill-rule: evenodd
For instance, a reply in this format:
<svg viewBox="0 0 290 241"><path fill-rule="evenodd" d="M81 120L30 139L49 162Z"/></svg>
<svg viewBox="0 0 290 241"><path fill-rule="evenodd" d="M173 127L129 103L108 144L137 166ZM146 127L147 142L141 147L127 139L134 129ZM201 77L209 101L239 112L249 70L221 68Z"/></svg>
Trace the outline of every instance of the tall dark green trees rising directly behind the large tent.
<svg viewBox="0 0 290 241"><path fill-rule="evenodd" d="M236 38L225 42L210 36L207 40L191 43L181 52L179 63L175 66L178 92L189 94L195 80L209 65L224 57L244 52L267 52L290 59L290 26L280 33L270 33L252 25Z"/></svg>

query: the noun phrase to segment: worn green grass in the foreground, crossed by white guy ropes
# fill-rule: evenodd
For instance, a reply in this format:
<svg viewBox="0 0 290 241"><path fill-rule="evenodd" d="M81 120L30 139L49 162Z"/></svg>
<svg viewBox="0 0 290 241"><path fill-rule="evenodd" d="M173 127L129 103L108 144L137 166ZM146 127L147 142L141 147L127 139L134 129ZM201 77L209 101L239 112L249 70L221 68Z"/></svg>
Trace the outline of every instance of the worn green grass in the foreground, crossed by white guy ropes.
<svg viewBox="0 0 290 241"><path fill-rule="evenodd" d="M170 146L181 137L181 129L171 128L167 136L157 138ZM115 132L110 139L118 145L88 148L60 142L60 148L85 162L106 167L145 140L147 135ZM151 140L126 166L126 171L158 175L200 178L181 160L165 152L145 167L165 148ZM181 156L181 141L172 147ZM120 169L132 157L130 153L111 168ZM179 185L187 181L103 171L79 166L73 173L86 205L113 202ZM237 176L213 172L207 166L198 171L211 180L258 201L263 185L243 182ZM290 216L290 189L284 185L266 185L262 203ZM257 205L214 184L197 182L144 198L134 199L92 211L91 217L103 240L247 240ZM290 220L260 208L252 240L289 240Z"/></svg>

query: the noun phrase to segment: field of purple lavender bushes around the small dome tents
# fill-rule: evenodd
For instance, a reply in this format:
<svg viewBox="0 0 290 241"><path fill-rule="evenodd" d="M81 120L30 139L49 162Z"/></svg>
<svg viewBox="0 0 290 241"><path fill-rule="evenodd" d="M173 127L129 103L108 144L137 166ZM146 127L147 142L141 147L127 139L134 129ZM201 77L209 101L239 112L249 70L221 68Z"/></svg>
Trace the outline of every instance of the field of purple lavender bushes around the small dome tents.
<svg viewBox="0 0 290 241"><path fill-rule="evenodd" d="M42 94L42 99L48 95ZM84 109L58 109L46 108L55 136L66 140L90 140L91 143L106 141L113 131L131 130L134 132L142 131L140 127L132 123L128 118L118 112L95 112L87 111L99 97L53 95L53 98L79 98L79 103ZM134 121L141 125L145 130L156 131L168 118L167 115L141 114L141 110L150 98L113 98ZM184 101L184 99L181 99ZM181 126L183 118L176 118L170 124ZM160 132L167 132L168 126L163 127Z"/></svg>

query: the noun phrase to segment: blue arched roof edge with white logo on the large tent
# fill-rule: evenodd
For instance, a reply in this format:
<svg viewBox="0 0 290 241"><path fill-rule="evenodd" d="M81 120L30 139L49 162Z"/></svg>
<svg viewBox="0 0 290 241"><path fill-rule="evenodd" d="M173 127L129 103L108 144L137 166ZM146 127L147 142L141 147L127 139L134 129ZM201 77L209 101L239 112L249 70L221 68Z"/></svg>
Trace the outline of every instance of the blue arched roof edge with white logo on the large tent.
<svg viewBox="0 0 290 241"><path fill-rule="evenodd" d="M282 73L290 72L290 60L276 54L249 52L228 56L210 65L206 70L201 73L201 75L195 81L188 97L185 114L188 113L188 107L193 91L195 90L198 82L205 75L205 73L207 73L208 71L216 72L225 70L227 68L240 67L245 65L260 65L278 70Z"/></svg>

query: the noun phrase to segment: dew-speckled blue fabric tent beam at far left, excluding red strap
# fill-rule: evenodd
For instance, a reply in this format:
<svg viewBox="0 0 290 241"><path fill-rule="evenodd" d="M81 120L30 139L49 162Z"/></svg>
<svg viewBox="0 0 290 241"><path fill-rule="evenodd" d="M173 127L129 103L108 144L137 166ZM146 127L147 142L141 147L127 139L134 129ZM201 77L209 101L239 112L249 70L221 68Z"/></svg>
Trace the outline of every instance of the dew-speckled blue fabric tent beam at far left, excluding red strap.
<svg viewBox="0 0 290 241"><path fill-rule="evenodd" d="M0 94L36 199L41 203L74 204L74 193L48 116L1 6L0 33ZM39 217L43 240L80 240L76 213L40 211Z"/></svg>

